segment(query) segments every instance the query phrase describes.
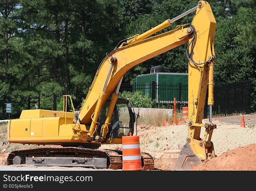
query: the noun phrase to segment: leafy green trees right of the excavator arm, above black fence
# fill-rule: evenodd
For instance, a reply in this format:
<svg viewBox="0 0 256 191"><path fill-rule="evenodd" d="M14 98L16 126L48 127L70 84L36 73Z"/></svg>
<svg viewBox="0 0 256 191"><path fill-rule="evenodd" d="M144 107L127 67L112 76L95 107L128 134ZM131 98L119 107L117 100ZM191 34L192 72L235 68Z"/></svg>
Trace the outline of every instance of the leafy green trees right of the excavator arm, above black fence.
<svg viewBox="0 0 256 191"><path fill-rule="evenodd" d="M254 112L256 111L256 88L253 85L256 82L256 41L253 37L255 33L248 32L249 28L255 25L253 20L248 19L248 15L251 14L253 14L251 9L239 8L237 15L217 23L218 30L214 43L216 53L214 80L216 84L251 80L251 112Z"/></svg>

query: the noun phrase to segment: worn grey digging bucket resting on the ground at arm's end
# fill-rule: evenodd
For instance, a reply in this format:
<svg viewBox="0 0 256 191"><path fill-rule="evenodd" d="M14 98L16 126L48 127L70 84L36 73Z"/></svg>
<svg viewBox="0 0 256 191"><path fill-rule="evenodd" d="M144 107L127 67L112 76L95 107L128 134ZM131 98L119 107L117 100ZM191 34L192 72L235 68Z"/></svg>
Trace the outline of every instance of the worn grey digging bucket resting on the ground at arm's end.
<svg viewBox="0 0 256 191"><path fill-rule="evenodd" d="M177 162L172 170L191 170L193 166L202 163L201 159L195 155L189 143L186 143L180 150Z"/></svg>

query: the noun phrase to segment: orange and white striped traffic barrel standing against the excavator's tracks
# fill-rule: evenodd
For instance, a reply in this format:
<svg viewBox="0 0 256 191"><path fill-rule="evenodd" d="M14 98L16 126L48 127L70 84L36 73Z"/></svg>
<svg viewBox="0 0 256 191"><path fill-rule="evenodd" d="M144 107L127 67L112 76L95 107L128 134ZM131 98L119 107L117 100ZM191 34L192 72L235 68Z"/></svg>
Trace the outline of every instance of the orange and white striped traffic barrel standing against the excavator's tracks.
<svg viewBox="0 0 256 191"><path fill-rule="evenodd" d="M122 170L142 170L139 136L122 137Z"/></svg>

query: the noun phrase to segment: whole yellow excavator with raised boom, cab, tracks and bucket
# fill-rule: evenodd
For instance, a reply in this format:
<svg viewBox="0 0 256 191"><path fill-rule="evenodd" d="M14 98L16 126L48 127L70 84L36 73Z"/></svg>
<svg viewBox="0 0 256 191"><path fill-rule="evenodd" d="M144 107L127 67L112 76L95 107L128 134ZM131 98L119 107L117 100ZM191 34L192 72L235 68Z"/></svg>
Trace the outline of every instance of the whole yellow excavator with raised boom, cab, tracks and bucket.
<svg viewBox="0 0 256 191"><path fill-rule="evenodd" d="M196 11L191 24L154 35L185 15ZM68 98L63 96L63 112L23 110L19 119L8 122L8 142L36 145L61 145L16 150L9 154L8 165L33 164L43 166L81 166L95 169L121 169L121 150L100 150L102 144L122 144L122 136L134 134L135 114L127 99L119 99L123 76L132 67L188 43L188 137L173 169L189 170L206 159L215 157L211 136L213 69L215 63L214 36L216 21L206 1L185 13L164 21L149 31L121 40L102 60L80 110L67 112ZM209 123L202 124L207 85L209 87ZM73 106L73 104L72 104ZM128 107L129 115L118 110ZM73 106L74 108L74 106ZM205 135L200 138L201 128ZM154 159L141 152L143 170L154 168Z"/></svg>

